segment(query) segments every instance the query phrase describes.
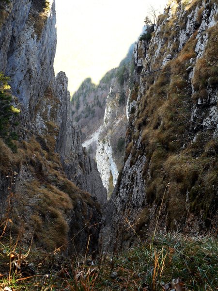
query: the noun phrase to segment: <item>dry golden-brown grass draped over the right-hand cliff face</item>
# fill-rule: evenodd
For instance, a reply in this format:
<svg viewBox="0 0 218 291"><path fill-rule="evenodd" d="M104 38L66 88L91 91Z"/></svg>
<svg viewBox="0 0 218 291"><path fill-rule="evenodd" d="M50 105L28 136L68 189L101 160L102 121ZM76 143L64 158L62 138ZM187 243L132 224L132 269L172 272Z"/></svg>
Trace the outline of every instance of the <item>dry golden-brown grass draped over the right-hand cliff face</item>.
<svg viewBox="0 0 218 291"><path fill-rule="evenodd" d="M192 6L187 7L187 13L199 3L192 1ZM199 11L199 17L202 11L203 8ZM168 30L164 28L162 35L165 31ZM140 131L142 137L139 152L144 154L145 151L147 157L143 170L143 178L146 179L146 202L151 205L154 202L160 203L165 187L171 183L166 193L169 228L176 226L175 220L183 225L187 193L190 193L190 211L199 214L203 209L206 213L204 220L208 225L213 215L210 209L213 209L212 199L215 199L217 191L217 141L207 131L205 136L200 134L196 142L192 143L190 119L193 102L197 98L207 97L205 89L208 84L211 87L217 84L217 32L217 26L209 29L204 56L197 61L194 69L193 85L196 92L193 96L186 69L191 65L190 59L196 57L197 30L178 56L154 75L155 82L148 81L148 90L140 99L140 112L135 121L135 129ZM163 51L167 50L166 46L167 42L162 48ZM148 51L149 53L151 52ZM161 62L161 58L156 61ZM143 77L144 82L147 79L147 76ZM127 138L130 136L131 132L127 134ZM129 147L128 151L130 150L133 153ZM139 152L132 157L133 162Z"/></svg>

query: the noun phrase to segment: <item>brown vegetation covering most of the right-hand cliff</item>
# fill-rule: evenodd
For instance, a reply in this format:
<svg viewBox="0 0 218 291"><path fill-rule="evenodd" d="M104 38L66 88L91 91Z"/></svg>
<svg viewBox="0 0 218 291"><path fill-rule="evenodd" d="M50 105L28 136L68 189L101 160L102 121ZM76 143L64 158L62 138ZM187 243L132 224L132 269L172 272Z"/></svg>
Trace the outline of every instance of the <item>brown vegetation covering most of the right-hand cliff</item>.
<svg viewBox="0 0 218 291"><path fill-rule="evenodd" d="M214 2L210 1L211 3ZM202 21L201 15L205 14L209 4L204 6L203 3L202 8L201 5L202 1L189 1L183 15L187 16L198 6L198 21ZM166 13L159 17L157 22L160 26L157 35L163 42L152 64L154 68L162 64L164 53L171 53L174 44L170 40L176 41L178 37L175 34L176 28L174 31L172 26L178 23L179 15L171 15L169 21L166 20L167 16ZM143 93L136 94L139 86L136 82L131 97L132 100L139 100L140 97L140 101L139 110L129 119L132 128L127 131L129 145L125 159L131 154L131 164L134 164L139 154L145 153L147 158L143 166L143 178L146 181L145 205L150 211L146 212L148 217L144 217L143 210L139 214L139 220L144 221L137 226L137 232L141 235L144 233L146 236L148 227L145 225L154 226L152 209L159 209L162 203L164 207L161 210L160 227L166 225L167 229L176 229L179 225L181 230L186 228L186 231L190 231L196 227L194 221L198 217L201 229L215 229L218 205L218 138L216 121L208 121L207 116L209 107L212 106L208 98L213 98L213 91L216 95L218 84L218 25L198 35L199 25L187 37L187 42L180 51L177 43L175 58L173 59L172 53L172 60L162 70L141 76L140 90ZM195 65L199 37L207 37L207 44ZM154 42L155 38L150 45L153 46ZM149 48L147 58L153 60L153 53L153 47ZM191 77L190 72L193 72ZM201 109L199 104L202 104ZM195 106L199 111L193 114ZM187 217L195 218L187 222Z"/></svg>

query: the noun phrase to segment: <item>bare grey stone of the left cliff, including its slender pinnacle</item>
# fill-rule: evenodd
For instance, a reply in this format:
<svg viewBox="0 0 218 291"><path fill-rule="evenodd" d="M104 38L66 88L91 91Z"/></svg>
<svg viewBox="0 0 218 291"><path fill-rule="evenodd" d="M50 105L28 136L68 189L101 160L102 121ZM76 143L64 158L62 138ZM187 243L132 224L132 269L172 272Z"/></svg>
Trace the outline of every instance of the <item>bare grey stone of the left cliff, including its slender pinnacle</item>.
<svg viewBox="0 0 218 291"><path fill-rule="evenodd" d="M0 55L4 60L0 70L5 71L11 78L12 92L18 97L22 106L23 123L28 121L27 127L34 129L37 134L42 134L47 129L46 122L54 122L60 129L56 150L60 153L62 162L64 163L70 156L74 157L71 161L75 163L73 166L71 162L64 163L68 177L83 190L91 191L93 196L103 202L106 193L96 165L94 161L89 160L87 153L83 152L78 128L72 122L67 77L61 72L54 78L53 63L57 42L55 2L50 1L50 10L40 38L34 32L31 23L32 13L34 14L34 1L31 3L23 0L12 3L12 12L0 32L2 43ZM6 35L11 42L4 41ZM49 104L47 100L43 100L44 92L48 87L54 92L56 102L59 104L53 117L50 116L50 111L57 104L53 102ZM40 104L38 111L35 110L39 107L37 104ZM45 112L47 116L42 116ZM69 169L72 167L77 168L77 171L69 174Z"/></svg>

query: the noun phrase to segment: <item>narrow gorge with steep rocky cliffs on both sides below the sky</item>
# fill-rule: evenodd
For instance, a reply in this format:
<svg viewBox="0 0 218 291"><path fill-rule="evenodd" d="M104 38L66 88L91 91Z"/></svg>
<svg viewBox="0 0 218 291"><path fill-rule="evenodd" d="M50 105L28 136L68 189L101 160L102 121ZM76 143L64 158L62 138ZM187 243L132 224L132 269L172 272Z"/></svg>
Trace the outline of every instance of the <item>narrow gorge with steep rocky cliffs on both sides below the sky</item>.
<svg viewBox="0 0 218 291"><path fill-rule="evenodd" d="M117 68L98 85L86 79L71 98L66 74L54 73L55 0L0 0L0 239L11 243L10 253L0 248L10 258L0 267L0 290L215 290L194 289L194 279L185 289L180 281L161 287L180 277L169 271L162 279L164 265L158 280L151 267L146 282L138 268L131 280L140 286L129 287L120 266L134 259L114 265L133 246L154 247L156 233L218 234L218 3L170 0L146 29ZM12 258L26 259L17 245L41 249L34 274L28 263L26 275L11 267ZM170 264L175 249L161 262ZM109 275L96 287L107 254ZM79 258L76 275L76 259L71 271L62 261L70 256ZM62 283L1 282L15 269L21 281L37 276L46 261L45 272Z"/></svg>

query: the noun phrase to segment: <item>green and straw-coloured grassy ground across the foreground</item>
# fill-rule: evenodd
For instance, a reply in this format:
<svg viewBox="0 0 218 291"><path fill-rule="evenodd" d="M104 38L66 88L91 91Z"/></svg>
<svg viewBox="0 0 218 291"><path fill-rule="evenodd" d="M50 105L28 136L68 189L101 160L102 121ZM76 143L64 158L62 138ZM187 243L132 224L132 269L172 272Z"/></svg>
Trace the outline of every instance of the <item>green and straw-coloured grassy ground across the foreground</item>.
<svg viewBox="0 0 218 291"><path fill-rule="evenodd" d="M0 241L0 290L177 290L218 287L218 242L157 234L125 253L63 257ZM7 287L8 289L4 289Z"/></svg>

